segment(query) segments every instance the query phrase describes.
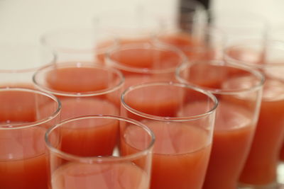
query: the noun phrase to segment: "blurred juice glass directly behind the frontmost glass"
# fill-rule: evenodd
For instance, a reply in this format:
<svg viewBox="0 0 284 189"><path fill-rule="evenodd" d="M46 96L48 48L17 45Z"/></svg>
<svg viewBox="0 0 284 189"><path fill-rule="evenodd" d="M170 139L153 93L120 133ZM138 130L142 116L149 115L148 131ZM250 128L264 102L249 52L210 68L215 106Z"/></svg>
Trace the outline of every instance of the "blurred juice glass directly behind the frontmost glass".
<svg viewBox="0 0 284 189"><path fill-rule="evenodd" d="M39 69L36 87L53 93L62 103L62 120L106 114L119 115L124 76L120 71L92 63L68 62Z"/></svg>

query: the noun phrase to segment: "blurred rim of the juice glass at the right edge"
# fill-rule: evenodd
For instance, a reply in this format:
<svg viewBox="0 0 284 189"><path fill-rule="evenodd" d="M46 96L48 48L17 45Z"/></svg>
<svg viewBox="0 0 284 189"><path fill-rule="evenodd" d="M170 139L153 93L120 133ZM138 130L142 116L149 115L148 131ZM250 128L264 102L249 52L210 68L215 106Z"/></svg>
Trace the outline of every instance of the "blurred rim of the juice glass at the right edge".
<svg viewBox="0 0 284 189"><path fill-rule="evenodd" d="M227 62L229 62L230 64L234 64L236 66L243 65L244 67L253 67L253 68L256 68L256 69L267 69L267 68L270 68L270 67L284 67L284 63L282 63L282 64L279 64L279 63L256 64L256 63L246 62L245 60L236 59L236 58L228 55L229 50L234 50L235 48L239 48L239 47L247 47L247 46L250 46L250 45L255 45L255 44L253 44L253 42L255 42L255 43L257 42L257 40L253 40L253 39L249 39L249 41L250 42L248 42L248 40L238 42L238 44L230 45L229 47L226 47L224 49L224 59ZM267 50L271 46L276 47L280 50L283 50L283 52L284 52L284 41L282 41L282 40L268 40L268 41L266 41L265 44L263 44L263 49L262 49L263 52L265 52L265 50Z"/></svg>

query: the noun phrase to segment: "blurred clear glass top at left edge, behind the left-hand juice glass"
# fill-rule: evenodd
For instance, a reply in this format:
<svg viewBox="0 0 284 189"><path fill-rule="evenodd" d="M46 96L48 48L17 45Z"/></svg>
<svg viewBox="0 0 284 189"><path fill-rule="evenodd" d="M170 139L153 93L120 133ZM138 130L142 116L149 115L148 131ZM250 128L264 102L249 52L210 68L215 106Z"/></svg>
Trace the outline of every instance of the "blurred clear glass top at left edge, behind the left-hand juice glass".
<svg viewBox="0 0 284 189"><path fill-rule="evenodd" d="M33 88L33 74L55 61L50 50L26 43L1 42L0 87Z"/></svg>

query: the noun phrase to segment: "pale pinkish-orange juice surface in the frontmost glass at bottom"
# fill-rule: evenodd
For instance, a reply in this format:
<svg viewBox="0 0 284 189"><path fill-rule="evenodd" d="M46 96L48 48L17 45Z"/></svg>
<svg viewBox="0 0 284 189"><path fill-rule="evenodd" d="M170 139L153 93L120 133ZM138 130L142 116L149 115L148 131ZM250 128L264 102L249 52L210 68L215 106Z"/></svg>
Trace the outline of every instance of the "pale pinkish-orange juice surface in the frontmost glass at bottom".
<svg viewBox="0 0 284 189"><path fill-rule="evenodd" d="M51 178L53 189L148 189L146 173L131 163L69 163Z"/></svg>

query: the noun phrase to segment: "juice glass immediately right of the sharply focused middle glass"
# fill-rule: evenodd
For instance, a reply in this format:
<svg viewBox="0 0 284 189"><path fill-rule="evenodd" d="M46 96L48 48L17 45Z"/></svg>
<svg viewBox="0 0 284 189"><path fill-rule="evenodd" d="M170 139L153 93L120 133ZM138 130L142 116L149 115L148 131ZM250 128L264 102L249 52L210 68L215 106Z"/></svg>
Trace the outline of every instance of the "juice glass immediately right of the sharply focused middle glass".
<svg viewBox="0 0 284 189"><path fill-rule="evenodd" d="M177 78L213 93L219 103L203 188L237 188L256 130L264 76L223 61L204 61L179 67Z"/></svg>

